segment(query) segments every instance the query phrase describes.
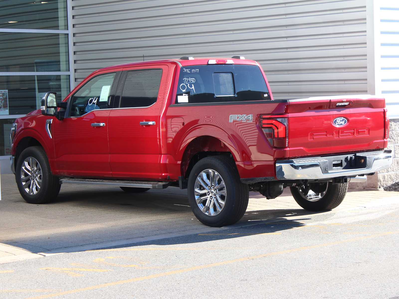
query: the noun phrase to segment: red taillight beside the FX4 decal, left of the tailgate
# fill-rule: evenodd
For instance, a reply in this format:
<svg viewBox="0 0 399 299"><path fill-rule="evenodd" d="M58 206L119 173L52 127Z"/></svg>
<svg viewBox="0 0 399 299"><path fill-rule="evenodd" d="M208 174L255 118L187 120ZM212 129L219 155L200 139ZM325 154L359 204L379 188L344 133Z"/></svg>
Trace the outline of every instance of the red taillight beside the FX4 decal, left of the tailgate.
<svg viewBox="0 0 399 299"><path fill-rule="evenodd" d="M260 125L267 141L273 148L288 146L288 118L262 115Z"/></svg>

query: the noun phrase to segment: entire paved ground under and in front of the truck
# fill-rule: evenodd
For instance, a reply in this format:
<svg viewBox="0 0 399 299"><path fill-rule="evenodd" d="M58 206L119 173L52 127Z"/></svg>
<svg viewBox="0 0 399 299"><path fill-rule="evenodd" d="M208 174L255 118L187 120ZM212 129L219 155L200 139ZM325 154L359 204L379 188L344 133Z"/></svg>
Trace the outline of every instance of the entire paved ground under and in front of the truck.
<svg viewBox="0 0 399 299"><path fill-rule="evenodd" d="M399 193L351 191L323 213L251 193L239 223L209 228L177 188L63 186L30 205L1 183L0 298L399 296Z"/></svg>

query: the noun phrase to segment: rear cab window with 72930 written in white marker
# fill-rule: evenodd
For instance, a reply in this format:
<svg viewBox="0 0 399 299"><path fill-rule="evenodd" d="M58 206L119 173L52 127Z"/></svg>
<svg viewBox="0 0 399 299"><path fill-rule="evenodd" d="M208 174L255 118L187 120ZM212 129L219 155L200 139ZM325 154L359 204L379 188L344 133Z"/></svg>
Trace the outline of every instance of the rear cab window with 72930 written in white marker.
<svg viewBox="0 0 399 299"><path fill-rule="evenodd" d="M257 65L194 65L180 69L175 104L270 100Z"/></svg>

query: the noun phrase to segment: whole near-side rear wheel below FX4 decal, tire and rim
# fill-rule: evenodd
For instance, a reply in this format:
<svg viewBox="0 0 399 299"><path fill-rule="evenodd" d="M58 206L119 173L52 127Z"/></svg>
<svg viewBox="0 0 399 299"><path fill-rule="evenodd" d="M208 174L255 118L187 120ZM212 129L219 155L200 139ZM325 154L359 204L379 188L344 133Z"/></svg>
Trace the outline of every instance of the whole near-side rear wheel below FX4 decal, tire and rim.
<svg viewBox="0 0 399 299"><path fill-rule="evenodd" d="M234 161L228 157L206 157L194 165L188 178L188 200L203 224L220 227L237 222L248 199L248 185L241 183Z"/></svg>

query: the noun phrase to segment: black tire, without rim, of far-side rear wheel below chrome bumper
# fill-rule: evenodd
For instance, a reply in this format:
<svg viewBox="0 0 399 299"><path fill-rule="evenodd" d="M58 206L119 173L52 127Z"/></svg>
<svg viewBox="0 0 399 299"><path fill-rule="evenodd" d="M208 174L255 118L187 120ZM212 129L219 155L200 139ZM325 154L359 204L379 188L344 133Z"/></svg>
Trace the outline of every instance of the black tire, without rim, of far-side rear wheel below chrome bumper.
<svg viewBox="0 0 399 299"><path fill-rule="evenodd" d="M291 194L295 201L303 209L308 211L320 212L328 211L338 207L348 192L348 183L328 183L327 191L322 198L317 201L310 201L302 197L297 187L290 187Z"/></svg>

